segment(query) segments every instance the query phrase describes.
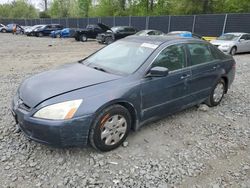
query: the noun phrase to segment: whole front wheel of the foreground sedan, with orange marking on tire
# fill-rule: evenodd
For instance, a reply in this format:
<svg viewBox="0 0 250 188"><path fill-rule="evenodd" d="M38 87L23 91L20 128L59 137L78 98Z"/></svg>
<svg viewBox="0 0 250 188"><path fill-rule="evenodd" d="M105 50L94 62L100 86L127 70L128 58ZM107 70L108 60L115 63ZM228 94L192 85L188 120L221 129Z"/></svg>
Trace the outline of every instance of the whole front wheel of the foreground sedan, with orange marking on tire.
<svg viewBox="0 0 250 188"><path fill-rule="evenodd" d="M130 127L129 111L121 105L112 105L101 111L94 120L90 129L90 143L100 151L113 150L127 138Z"/></svg>

